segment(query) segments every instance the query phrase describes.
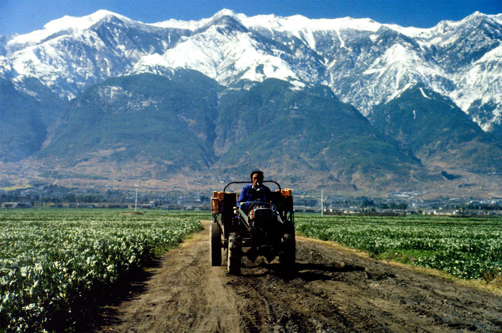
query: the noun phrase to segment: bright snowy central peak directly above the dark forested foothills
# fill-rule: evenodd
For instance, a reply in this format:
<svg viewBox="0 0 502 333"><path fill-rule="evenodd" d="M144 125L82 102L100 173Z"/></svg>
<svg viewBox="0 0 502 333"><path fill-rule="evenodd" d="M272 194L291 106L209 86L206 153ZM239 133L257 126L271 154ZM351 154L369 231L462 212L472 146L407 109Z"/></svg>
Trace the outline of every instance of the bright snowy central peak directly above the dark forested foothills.
<svg viewBox="0 0 502 333"><path fill-rule="evenodd" d="M180 57L180 54L190 56ZM313 74L307 75L298 68L312 68L315 63L312 52L293 52L283 43L250 31L234 16L216 15L209 23L194 30L189 39L167 50L162 57L142 57L133 72L150 72L152 67L165 66L194 69L223 85L238 81L263 81L266 78L295 82Z"/></svg>

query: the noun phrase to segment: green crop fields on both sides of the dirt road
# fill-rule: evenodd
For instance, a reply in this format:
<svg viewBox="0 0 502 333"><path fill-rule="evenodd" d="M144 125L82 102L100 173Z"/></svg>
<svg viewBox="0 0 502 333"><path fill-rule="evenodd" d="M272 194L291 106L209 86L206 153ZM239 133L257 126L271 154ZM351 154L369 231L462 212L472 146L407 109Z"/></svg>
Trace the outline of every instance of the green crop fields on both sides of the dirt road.
<svg viewBox="0 0 502 333"><path fill-rule="evenodd" d="M209 212L0 210L0 332L72 330ZM296 230L380 259L500 279L502 219L296 214ZM77 323L76 323L77 322Z"/></svg>

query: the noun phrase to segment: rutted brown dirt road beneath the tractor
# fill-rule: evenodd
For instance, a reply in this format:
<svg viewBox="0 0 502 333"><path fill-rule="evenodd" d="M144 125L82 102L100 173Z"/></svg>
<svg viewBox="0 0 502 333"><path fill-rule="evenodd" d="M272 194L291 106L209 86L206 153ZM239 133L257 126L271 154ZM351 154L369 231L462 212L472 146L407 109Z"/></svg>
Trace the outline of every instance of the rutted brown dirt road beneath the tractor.
<svg viewBox="0 0 502 333"><path fill-rule="evenodd" d="M297 239L299 272L209 266L205 230L166 254L102 332L502 332L502 297ZM223 261L226 262L226 261Z"/></svg>

